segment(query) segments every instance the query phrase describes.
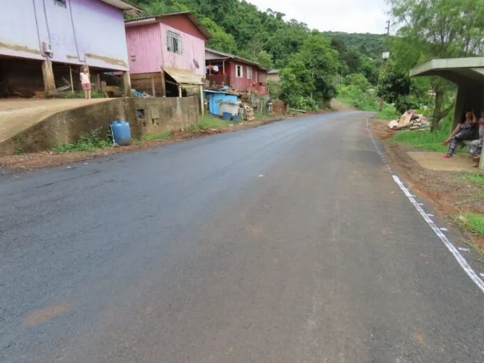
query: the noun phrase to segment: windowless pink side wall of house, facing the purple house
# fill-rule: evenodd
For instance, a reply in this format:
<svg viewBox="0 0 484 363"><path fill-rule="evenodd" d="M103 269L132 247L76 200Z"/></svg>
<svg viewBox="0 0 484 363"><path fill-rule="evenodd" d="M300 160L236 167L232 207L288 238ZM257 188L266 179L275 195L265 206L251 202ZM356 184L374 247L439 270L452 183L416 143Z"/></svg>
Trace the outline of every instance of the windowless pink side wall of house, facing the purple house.
<svg viewBox="0 0 484 363"><path fill-rule="evenodd" d="M129 72L161 72L161 32L159 23L126 28ZM132 61L136 56L136 61Z"/></svg>

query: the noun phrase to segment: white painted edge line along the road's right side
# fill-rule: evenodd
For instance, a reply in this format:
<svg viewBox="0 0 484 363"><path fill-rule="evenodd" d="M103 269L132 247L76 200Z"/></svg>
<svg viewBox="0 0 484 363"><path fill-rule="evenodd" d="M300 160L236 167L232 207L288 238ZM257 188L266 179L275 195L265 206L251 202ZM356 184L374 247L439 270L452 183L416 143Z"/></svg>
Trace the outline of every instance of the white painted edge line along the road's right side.
<svg viewBox="0 0 484 363"><path fill-rule="evenodd" d="M380 153L381 150L380 150L379 147L377 147L376 142L373 139L373 133L370 129L369 120L370 120L370 118L366 118L366 129L369 131L371 141L373 142L373 146ZM385 159L384 156L382 156L382 160L383 160L383 163L385 163L387 165L388 170L392 172L392 167L389 166L389 163L387 163L387 160ZM403 191L403 194L405 194L407 199L410 200L410 202L413 204L415 209L417 209L417 211L420 213L422 218L424 218L424 220L430 226L430 228L433 229L433 232L435 232L435 234L437 234L437 237L439 237L440 241L444 242L444 245L446 246L446 248L451 252L451 254L455 258L455 260L458 262L458 264L460 264L460 267L462 267L462 270L464 270L465 273L467 273L467 275L469 277L471 277L471 280L474 282L474 284L476 284L477 287L479 289L481 289L481 291L484 293L484 281L481 280L481 277L479 277L479 275L476 273L476 271L474 271L471 268L471 266L469 265L467 260L462 255L460 255L460 252L455 248L455 246L447 238L447 236L439 229L439 227L437 227L437 225L435 225L433 220L430 219L430 216L432 216L432 215L429 216L426 213L426 211L424 211L424 209L419 205L417 200L415 200L415 195L412 195L412 193L410 193L408 188L405 187L405 185L402 183L402 181L400 180L399 177L397 177L396 175L392 175L392 177L393 177L394 181L396 182L396 184L398 185L398 187L401 189L401 191ZM483 273L481 273L480 275L482 277L484 277Z"/></svg>

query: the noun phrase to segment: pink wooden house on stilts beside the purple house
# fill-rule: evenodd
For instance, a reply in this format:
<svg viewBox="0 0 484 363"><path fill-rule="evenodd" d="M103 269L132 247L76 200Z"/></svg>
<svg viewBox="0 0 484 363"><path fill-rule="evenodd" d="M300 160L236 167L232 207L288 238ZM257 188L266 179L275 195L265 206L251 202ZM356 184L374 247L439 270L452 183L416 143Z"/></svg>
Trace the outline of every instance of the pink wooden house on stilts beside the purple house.
<svg viewBox="0 0 484 363"><path fill-rule="evenodd" d="M131 85L159 97L199 94L210 33L190 12L127 20Z"/></svg>

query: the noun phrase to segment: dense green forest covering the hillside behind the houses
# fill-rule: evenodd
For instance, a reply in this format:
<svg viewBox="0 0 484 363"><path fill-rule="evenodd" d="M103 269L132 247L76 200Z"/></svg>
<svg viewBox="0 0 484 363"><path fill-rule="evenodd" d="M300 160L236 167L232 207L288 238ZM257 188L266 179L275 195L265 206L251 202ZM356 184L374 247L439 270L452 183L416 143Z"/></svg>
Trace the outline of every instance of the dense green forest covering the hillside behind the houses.
<svg viewBox="0 0 484 363"><path fill-rule="evenodd" d="M317 108L334 97L337 76L378 81L383 35L321 33L243 0L131 1L145 9L143 15L193 12L212 35L207 47L280 69L284 82L273 93L300 108Z"/></svg>

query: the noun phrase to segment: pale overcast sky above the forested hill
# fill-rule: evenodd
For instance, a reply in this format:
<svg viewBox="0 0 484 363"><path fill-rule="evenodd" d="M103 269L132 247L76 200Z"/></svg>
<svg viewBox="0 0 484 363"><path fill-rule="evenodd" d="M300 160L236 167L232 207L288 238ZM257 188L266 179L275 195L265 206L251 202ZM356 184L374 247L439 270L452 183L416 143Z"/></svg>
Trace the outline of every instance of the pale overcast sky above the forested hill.
<svg viewBox="0 0 484 363"><path fill-rule="evenodd" d="M247 0L265 11L286 14L310 29L346 33L385 33L388 20L385 0Z"/></svg>

